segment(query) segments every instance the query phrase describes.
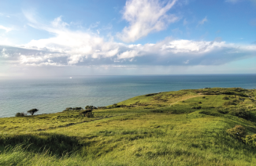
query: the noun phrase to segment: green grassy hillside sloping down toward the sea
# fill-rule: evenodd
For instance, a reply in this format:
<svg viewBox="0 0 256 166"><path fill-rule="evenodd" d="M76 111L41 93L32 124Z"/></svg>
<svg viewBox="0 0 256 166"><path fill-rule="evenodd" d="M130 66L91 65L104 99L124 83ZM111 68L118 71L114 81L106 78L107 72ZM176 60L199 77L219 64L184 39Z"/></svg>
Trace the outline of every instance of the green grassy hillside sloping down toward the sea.
<svg viewBox="0 0 256 166"><path fill-rule="evenodd" d="M94 117L65 110L0 118L0 165L254 165L254 96L188 89L136 96Z"/></svg>

